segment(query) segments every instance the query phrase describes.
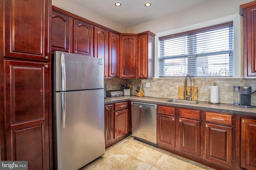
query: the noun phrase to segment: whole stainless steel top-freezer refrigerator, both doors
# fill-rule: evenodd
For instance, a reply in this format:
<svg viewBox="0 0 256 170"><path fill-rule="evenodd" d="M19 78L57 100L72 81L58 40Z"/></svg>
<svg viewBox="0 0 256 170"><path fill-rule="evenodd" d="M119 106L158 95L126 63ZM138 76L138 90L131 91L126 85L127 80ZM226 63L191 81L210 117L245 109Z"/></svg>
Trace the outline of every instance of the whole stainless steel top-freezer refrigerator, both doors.
<svg viewBox="0 0 256 170"><path fill-rule="evenodd" d="M103 59L54 52L58 170L77 170L105 153Z"/></svg>

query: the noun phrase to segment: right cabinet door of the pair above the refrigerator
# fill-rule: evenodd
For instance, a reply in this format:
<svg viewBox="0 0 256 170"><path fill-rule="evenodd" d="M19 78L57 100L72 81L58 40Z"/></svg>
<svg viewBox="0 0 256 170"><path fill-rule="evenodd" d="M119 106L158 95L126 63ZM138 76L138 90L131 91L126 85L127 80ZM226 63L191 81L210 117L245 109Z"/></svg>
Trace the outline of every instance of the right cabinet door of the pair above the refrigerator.
<svg viewBox="0 0 256 170"><path fill-rule="evenodd" d="M92 35L92 25L74 19L74 53L92 57Z"/></svg>

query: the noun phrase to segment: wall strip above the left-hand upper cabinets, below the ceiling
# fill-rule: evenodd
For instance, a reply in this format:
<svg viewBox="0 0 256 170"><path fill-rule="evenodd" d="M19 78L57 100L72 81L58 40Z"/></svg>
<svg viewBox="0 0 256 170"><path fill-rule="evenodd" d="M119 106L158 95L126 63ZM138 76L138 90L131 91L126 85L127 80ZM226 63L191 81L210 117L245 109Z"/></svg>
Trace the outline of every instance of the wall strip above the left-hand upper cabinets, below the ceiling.
<svg viewBox="0 0 256 170"><path fill-rule="evenodd" d="M80 6L70 0L52 0L52 5L61 8L62 10L71 12L72 14L76 14L87 20L93 21L115 31L118 31L120 33L126 33L127 31L126 27L123 27L122 25L119 25L112 20L104 18L103 16L100 16L99 14L87 8L84 8L83 6Z"/></svg>

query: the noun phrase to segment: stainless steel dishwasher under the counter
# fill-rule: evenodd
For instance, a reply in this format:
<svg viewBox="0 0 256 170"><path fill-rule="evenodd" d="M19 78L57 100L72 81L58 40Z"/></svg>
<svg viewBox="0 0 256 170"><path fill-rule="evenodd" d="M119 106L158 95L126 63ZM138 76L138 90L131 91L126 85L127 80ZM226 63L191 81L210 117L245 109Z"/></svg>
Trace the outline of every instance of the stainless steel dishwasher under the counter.
<svg viewBox="0 0 256 170"><path fill-rule="evenodd" d="M132 136L153 146L156 141L156 104L132 102Z"/></svg>

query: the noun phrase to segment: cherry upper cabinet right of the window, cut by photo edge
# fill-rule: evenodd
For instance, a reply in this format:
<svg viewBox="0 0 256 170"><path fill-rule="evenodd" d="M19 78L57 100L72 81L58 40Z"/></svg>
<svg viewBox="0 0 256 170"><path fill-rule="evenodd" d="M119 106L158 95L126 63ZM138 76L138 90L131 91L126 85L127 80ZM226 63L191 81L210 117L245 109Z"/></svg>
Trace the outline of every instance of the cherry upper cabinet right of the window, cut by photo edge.
<svg viewBox="0 0 256 170"><path fill-rule="evenodd" d="M244 16L244 78L256 76L256 1L240 6Z"/></svg>

